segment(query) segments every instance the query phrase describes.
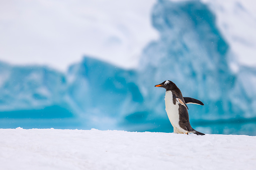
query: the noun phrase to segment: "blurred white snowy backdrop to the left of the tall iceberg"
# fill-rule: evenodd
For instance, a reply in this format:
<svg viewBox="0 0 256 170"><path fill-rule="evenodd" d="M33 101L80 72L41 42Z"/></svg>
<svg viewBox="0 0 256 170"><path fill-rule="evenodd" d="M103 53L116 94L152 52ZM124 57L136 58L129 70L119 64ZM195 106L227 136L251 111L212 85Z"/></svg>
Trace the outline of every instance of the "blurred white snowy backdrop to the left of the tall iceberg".
<svg viewBox="0 0 256 170"><path fill-rule="evenodd" d="M0 0L0 60L65 70L83 55L136 67L157 38L150 11L155 0Z"/></svg>

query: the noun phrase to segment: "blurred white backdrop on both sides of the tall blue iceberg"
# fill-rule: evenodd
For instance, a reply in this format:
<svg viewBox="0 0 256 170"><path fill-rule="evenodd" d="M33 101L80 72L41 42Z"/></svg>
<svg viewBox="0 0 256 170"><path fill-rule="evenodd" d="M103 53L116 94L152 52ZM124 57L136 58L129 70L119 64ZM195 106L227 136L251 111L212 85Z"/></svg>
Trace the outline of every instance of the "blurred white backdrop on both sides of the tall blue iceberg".
<svg viewBox="0 0 256 170"><path fill-rule="evenodd" d="M256 67L255 1L201 1L216 15L216 24L231 49L231 60ZM0 61L44 64L64 71L83 55L90 55L134 68L142 49L158 38L150 21L155 3L0 0Z"/></svg>

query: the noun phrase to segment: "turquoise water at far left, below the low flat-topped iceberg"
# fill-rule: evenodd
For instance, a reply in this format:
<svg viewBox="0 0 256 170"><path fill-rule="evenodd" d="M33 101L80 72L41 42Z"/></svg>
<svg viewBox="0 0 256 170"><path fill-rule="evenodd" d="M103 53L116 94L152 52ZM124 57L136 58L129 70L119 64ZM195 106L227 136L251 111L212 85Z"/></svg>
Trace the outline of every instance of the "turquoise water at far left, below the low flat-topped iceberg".
<svg viewBox="0 0 256 170"><path fill-rule="evenodd" d="M44 109L0 112L0 128L81 128L81 122L71 111L60 106Z"/></svg>

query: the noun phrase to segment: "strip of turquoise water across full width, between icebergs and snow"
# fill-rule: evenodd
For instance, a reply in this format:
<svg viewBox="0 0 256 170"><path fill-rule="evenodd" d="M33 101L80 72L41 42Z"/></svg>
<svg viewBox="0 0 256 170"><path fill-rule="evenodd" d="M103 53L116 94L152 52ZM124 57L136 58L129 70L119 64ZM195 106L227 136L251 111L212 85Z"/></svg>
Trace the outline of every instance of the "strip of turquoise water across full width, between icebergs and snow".
<svg viewBox="0 0 256 170"><path fill-rule="evenodd" d="M127 130L173 132L167 115L165 119L146 121L147 112L137 112L126 117L118 128L100 128L101 130ZM227 120L191 120L194 129L208 134L243 134L256 135L256 118L233 118ZM0 112L0 128L58 128L58 129L91 129L90 120L81 118L66 108L49 106L44 109L16 110Z"/></svg>

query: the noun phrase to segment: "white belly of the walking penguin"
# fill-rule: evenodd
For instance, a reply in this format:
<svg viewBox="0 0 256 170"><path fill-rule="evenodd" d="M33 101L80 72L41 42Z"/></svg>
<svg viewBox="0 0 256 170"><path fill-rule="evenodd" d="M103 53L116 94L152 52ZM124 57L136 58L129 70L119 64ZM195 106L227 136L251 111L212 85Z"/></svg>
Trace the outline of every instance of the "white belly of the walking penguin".
<svg viewBox="0 0 256 170"><path fill-rule="evenodd" d="M179 103L173 102L173 93L172 91L165 92L165 110L167 112L170 123L174 126L175 133L187 133L186 130L182 129L179 125L180 115L179 115Z"/></svg>

